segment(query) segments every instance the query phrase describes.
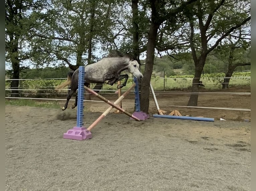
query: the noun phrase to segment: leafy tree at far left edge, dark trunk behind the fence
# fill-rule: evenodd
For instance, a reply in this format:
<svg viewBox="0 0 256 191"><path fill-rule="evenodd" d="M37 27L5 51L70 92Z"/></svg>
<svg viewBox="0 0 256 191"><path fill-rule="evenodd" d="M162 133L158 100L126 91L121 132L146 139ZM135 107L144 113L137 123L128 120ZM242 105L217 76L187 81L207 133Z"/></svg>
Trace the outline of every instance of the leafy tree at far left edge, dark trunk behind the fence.
<svg viewBox="0 0 256 191"><path fill-rule="evenodd" d="M35 20L30 11L45 6L45 1L5 0L5 61L12 66L12 79L19 79L23 61L30 59L26 49L29 47L28 30ZM13 97L18 96L19 80L13 80L10 88Z"/></svg>

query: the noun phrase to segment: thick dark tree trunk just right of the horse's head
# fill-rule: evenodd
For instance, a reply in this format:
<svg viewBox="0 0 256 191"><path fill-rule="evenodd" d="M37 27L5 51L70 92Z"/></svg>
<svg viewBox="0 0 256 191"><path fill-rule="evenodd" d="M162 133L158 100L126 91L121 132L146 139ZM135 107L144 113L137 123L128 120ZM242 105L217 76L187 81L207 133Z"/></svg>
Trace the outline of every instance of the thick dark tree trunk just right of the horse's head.
<svg viewBox="0 0 256 191"><path fill-rule="evenodd" d="M143 74L143 79L141 81L141 99L140 99L140 109L148 113L149 108L149 84L151 80L151 74L153 71L153 64L154 64L154 50L155 50L155 43L156 43L156 36L157 30L159 25L155 23L150 24L150 29L148 33L148 43L147 43L147 55L146 55L146 64L145 64L145 71Z"/></svg>

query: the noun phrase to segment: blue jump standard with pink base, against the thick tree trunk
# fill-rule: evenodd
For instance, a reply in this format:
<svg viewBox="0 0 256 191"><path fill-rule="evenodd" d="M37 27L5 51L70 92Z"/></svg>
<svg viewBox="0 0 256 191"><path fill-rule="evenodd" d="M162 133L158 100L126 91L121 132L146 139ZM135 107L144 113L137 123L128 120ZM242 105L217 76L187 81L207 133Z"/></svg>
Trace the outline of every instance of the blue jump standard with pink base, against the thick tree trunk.
<svg viewBox="0 0 256 191"><path fill-rule="evenodd" d="M135 84L134 87L134 94L135 94L135 111L133 113L140 120L146 120L149 118L149 115L145 112L140 110L140 94L139 94L139 83L136 77L133 77L133 81ZM130 119L133 119L132 117Z"/></svg>

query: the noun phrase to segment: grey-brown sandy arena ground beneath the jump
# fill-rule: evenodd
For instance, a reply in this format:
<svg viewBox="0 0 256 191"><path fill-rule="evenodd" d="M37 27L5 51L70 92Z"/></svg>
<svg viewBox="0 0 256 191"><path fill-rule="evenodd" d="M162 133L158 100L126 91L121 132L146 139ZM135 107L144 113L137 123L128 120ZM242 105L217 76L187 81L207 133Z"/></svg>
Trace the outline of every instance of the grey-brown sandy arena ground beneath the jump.
<svg viewBox="0 0 256 191"><path fill-rule="evenodd" d="M177 95L173 98L181 101ZM203 103L202 97L199 100L201 105L208 102L213 106L209 101ZM229 106L230 102L234 101L229 98ZM248 102L237 104L246 107ZM194 116L202 116L203 112L179 110ZM86 111L85 126L103 111ZM240 116L232 113L235 112L207 110L203 116ZM250 117L250 113L245 112L244 116ZM6 190L250 190L250 122L153 117L137 122L125 114L110 113L92 129L92 139L63 139L63 133L75 125L76 110L6 105Z"/></svg>

